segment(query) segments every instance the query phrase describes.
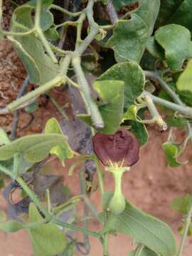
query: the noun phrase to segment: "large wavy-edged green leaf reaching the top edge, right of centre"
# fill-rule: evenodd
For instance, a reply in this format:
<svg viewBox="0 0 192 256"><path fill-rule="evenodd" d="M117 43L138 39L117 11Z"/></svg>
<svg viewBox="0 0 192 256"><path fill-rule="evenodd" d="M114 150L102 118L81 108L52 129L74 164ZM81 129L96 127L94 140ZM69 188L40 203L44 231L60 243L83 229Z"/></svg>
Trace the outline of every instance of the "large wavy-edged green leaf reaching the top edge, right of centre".
<svg viewBox="0 0 192 256"><path fill-rule="evenodd" d="M139 9L132 14L131 19L117 21L113 36L107 42L107 46L114 50L117 62L140 62L153 31L159 6L159 0L140 0Z"/></svg>

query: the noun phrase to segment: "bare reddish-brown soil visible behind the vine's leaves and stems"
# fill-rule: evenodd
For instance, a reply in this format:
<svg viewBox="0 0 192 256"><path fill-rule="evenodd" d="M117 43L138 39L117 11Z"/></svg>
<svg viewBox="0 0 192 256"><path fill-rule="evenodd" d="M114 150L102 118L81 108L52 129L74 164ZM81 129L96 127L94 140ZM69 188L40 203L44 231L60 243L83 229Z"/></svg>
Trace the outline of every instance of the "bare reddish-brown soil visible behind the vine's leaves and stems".
<svg viewBox="0 0 192 256"><path fill-rule="evenodd" d="M0 42L0 106L6 105L16 98L19 88L21 87L26 72L16 53L11 48L9 42ZM29 87L31 90L31 87ZM53 96L58 102L65 105L69 102L69 96L66 90L54 90ZM67 109L68 111L68 109ZM70 110L69 110L70 111ZM41 97L39 108L34 112L34 120L29 127L21 130L28 123L30 116L21 111L18 135L31 134L41 132L46 120L50 117L58 117L58 112L51 102L47 102ZM4 127L7 132L11 132L13 115L0 116L0 127ZM171 210L171 201L176 196L183 196L185 193L192 193L192 157L191 146L188 146L186 153L182 159L188 159L188 164L181 168L171 169L167 166L161 144L166 141L168 132L161 133L156 127L148 127L149 142L141 149L140 161L132 168L132 171L124 174L123 192L126 198L147 213L164 220L171 225L179 242L180 235L177 228L181 224L181 215ZM178 134L182 139L182 132ZM50 162L47 166L47 173L59 174L63 176L63 181L67 184L74 195L80 193L78 185L78 170L75 170L73 176L68 176L68 167L72 162L67 161L65 169L60 165L59 161ZM95 177L95 182L97 178ZM113 189L113 179L110 174L105 176L105 189L110 191ZM99 191L91 196L91 201L100 208ZM0 196L0 208L6 210L6 201ZM96 221L90 222L90 228L96 230L100 228ZM95 238L90 238L91 256L102 255L102 247L100 242ZM132 240L124 235L110 238L110 256L125 256L132 248ZM14 234L6 234L0 232L0 256L32 256L31 244L28 240L26 231ZM77 252L78 255L78 252ZM192 255L192 240L188 238L183 256Z"/></svg>

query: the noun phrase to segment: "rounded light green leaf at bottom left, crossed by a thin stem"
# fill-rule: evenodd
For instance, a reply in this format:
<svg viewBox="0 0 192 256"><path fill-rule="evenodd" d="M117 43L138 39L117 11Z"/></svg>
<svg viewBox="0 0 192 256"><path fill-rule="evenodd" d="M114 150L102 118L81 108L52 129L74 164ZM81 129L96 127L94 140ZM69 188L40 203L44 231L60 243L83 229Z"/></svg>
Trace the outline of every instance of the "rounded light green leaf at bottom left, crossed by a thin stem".
<svg viewBox="0 0 192 256"><path fill-rule="evenodd" d="M31 223L43 220L33 203L29 206L29 220ZM62 253L68 245L64 233L52 223L31 228L29 233L35 256L55 256Z"/></svg>

